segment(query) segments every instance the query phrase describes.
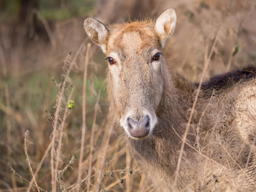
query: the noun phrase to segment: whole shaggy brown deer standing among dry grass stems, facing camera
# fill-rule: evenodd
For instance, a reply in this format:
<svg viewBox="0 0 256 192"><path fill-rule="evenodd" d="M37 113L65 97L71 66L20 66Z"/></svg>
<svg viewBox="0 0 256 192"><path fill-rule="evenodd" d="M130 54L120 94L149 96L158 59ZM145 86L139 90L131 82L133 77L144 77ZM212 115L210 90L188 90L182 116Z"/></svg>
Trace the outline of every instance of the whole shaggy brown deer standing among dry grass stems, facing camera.
<svg viewBox="0 0 256 192"><path fill-rule="evenodd" d="M176 22L173 9L109 26L84 20L107 56L108 118L153 191L256 191L256 68L203 82L185 139L199 84L175 72L163 53Z"/></svg>

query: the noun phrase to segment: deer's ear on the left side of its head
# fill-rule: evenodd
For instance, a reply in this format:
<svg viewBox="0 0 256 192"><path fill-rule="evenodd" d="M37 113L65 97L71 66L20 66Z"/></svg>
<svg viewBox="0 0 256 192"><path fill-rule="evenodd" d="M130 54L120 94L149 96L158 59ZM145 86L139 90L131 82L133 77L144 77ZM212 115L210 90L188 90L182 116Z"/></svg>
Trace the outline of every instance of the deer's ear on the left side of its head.
<svg viewBox="0 0 256 192"><path fill-rule="evenodd" d="M90 39L99 45L106 54L106 45L108 40L108 29L102 22L96 19L88 18L84 20L84 29Z"/></svg>

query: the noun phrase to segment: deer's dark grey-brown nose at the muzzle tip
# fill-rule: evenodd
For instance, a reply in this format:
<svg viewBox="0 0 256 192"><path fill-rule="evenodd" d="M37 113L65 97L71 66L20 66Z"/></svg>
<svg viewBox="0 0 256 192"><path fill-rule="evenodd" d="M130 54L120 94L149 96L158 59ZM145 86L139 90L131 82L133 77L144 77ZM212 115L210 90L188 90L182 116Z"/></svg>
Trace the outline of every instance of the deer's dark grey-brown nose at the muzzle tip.
<svg viewBox="0 0 256 192"><path fill-rule="evenodd" d="M150 129L150 121L148 116L145 116L140 122L134 121L131 117L127 119L128 131L134 138L143 138L148 135Z"/></svg>

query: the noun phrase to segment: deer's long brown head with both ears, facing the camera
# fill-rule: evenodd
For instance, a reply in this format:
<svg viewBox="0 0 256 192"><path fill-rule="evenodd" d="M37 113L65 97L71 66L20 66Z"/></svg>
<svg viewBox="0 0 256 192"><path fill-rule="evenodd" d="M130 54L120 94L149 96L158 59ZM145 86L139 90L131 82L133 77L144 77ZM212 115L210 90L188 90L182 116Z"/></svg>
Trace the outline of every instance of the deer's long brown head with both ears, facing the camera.
<svg viewBox="0 0 256 192"><path fill-rule="evenodd" d="M107 29L98 20L84 21L88 36L107 55L109 97L120 125L132 138L145 138L157 124L156 110L164 90L161 49L175 23L172 9L155 23L131 22Z"/></svg>

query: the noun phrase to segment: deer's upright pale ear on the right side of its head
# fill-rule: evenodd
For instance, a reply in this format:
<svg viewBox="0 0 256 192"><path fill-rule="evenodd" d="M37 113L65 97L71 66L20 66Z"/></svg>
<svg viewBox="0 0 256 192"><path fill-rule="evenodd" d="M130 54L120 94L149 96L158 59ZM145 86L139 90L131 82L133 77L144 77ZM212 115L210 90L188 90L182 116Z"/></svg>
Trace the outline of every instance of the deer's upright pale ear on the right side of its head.
<svg viewBox="0 0 256 192"><path fill-rule="evenodd" d="M172 35L176 25L177 15L173 9L165 10L156 20L155 31L160 37L162 47L168 36Z"/></svg>

